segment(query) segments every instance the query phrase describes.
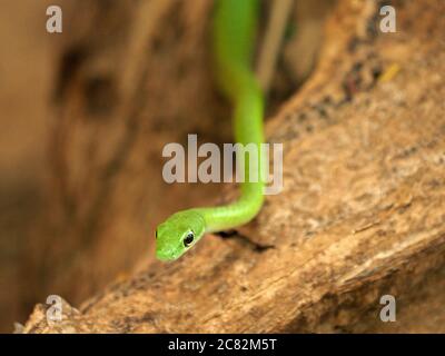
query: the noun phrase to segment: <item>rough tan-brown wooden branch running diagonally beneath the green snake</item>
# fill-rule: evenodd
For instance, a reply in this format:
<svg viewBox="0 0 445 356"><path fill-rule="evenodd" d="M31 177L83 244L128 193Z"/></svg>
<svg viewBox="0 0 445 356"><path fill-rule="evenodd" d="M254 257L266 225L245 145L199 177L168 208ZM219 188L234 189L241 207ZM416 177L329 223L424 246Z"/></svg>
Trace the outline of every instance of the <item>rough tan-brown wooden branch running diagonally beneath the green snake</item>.
<svg viewBox="0 0 445 356"><path fill-rule="evenodd" d="M382 33L377 1L339 1L316 71L268 123L285 186L253 224L60 323L39 305L24 332L354 332L382 295L406 307L445 266L445 4L394 6L397 32Z"/></svg>

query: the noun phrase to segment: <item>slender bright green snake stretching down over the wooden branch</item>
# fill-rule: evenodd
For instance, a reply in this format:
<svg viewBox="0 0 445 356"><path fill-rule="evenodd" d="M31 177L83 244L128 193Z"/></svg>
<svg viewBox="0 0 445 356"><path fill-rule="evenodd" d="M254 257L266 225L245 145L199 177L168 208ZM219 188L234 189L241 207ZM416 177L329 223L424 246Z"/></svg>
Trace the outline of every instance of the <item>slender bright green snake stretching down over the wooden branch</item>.
<svg viewBox="0 0 445 356"><path fill-rule="evenodd" d="M258 0L217 0L212 21L212 53L219 90L233 106L235 141L256 145L259 159L254 169L261 171L264 98L250 63L258 14ZM175 260L206 233L233 229L258 214L264 202L265 184L261 178L250 181L251 162L246 159L247 152L244 155L245 179L238 200L226 206L191 208L171 215L156 230L158 259Z"/></svg>

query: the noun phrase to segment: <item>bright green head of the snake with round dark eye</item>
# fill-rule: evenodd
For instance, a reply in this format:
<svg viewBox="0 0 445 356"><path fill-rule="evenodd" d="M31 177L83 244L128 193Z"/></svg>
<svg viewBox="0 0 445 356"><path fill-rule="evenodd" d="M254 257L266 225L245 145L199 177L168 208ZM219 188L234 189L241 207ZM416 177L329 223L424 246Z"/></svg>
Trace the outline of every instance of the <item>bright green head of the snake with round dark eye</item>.
<svg viewBox="0 0 445 356"><path fill-rule="evenodd" d="M175 260L191 248L205 233L205 220L194 209L170 216L156 229L156 257Z"/></svg>

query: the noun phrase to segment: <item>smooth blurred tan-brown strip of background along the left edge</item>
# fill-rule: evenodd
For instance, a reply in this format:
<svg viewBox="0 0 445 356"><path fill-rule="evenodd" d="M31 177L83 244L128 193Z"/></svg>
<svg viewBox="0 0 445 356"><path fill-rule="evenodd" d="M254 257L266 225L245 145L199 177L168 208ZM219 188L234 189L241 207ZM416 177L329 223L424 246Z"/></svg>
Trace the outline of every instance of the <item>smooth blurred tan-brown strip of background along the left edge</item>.
<svg viewBox="0 0 445 356"><path fill-rule="evenodd" d="M46 32L49 1L0 1L0 330L32 306L34 285L20 261L39 220L48 165L55 37Z"/></svg>

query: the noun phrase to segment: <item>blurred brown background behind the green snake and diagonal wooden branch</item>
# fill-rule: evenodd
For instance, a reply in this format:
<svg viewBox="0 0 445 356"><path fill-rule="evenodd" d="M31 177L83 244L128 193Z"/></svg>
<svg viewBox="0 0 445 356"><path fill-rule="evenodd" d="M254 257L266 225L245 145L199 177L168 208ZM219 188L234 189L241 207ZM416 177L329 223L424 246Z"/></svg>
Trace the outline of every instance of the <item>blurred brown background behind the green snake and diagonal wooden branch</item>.
<svg viewBox="0 0 445 356"><path fill-rule="evenodd" d="M290 7L266 63L268 116L314 68L334 2ZM46 30L50 4L62 33ZM211 4L0 0L0 332L50 294L78 306L147 266L160 220L215 202L219 186L161 179L165 144L231 140L209 65Z"/></svg>

